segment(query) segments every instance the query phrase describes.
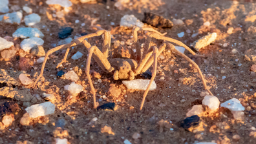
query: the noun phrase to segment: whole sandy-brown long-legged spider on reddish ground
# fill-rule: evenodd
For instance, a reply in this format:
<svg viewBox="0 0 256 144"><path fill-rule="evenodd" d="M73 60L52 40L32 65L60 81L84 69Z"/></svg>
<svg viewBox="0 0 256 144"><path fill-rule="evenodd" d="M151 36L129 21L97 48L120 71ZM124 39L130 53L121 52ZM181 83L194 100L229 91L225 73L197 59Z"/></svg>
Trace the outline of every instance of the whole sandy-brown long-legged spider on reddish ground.
<svg viewBox="0 0 256 144"><path fill-rule="evenodd" d="M47 58L50 54L52 54L53 52L56 52L57 50L67 48L64 58L57 65L57 68L58 68L59 66L61 66L62 63L67 62L67 55L69 54L70 47L76 46L80 43L83 43L83 45L89 52L89 55L87 57L85 73L87 75L89 85L91 87L91 94L93 95L94 108L97 108L99 103L96 102L96 96L95 96L96 90L94 89L94 86L92 84L92 79L89 74L90 63L91 63L92 57L98 63L98 65L100 65L100 67L102 68L103 71L108 72L108 73L114 72L114 74L113 74L114 80L118 80L118 79L132 80L132 79L134 79L134 76L137 76L138 74L142 74L149 67L151 67L151 65L153 65L152 77L149 81L149 85L147 86L147 89L144 92L144 95L142 98L142 103L140 105L140 110L142 110L142 108L144 106L145 98L147 96L147 93L149 92L149 88L151 87L151 84L156 76L157 57L165 50L165 48L171 50L171 52L173 52L174 54L177 54L178 56L184 57L187 61L189 61L189 63L191 63L195 68L197 68L198 73L200 74L200 78L202 79L204 88L209 92L209 94L211 94L213 96L211 91L207 88L206 80L204 79L204 76L202 75L202 72L201 72L200 68L198 67L198 65L194 61L192 61L189 57L187 57L185 54L176 50L175 46L171 44L171 43L175 43L176 45L183 46L184 48L186 48L186 50L191 52L191 54L193 54L194 56L204 57L202 55L195 54L195 52L193 52L193 50L191 50L184 43L177 41L175 39L171 39L169 37L165 37L164 34L161 34L157 30L154 30L153 28L134 27L133 28L133 37L134 37L134 43L135 43L135 47L136 47L136 60L128 59L128 58L109 58L109 48L111 46L111 33L107 30L103 30L99 26L94 26L94 27L98 28L97 32L88 34L86 36L78 37L78 38L72 40L71 43L68 43L66 45L57 46L55 48L48 50L47 54L45 55L45 60L43 61L43 64L41 67L41 72L32 87L36 87L37 81L39 81L39 79L43 76L43 70L45 68L45 63L47 62ZM139 30L144 30L144 31L146 30L146 31L150 32L145 40L143 54L141 53L141 46L140 46L140 43L138 42L138 34L137 33ZM95 45L91 46L91 44L88 43L86 40L89 37L96 37L96 36L101 36L101 35L103 35L102 50L100 50ZM162 43L162 45L160 45L158 48L156 46L151 46L151 40L153 38L164 40L164 43Z"/></svg>

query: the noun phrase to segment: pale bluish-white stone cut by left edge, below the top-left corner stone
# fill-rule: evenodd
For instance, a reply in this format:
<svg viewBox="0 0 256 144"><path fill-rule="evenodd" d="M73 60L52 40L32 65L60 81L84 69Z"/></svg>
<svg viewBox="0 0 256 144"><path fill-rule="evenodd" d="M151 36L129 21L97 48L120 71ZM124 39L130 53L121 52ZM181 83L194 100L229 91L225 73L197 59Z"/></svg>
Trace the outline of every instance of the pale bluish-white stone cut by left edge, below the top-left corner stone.
<svg viewBox="0 0 256 144"><path fill-rule="evenodd" d="M6 17L5 19L3 17ZM23 15L21 12L12 12L8 14L0 15L0 21L5 23L17 23L18 25L21 23Z"/></svg>

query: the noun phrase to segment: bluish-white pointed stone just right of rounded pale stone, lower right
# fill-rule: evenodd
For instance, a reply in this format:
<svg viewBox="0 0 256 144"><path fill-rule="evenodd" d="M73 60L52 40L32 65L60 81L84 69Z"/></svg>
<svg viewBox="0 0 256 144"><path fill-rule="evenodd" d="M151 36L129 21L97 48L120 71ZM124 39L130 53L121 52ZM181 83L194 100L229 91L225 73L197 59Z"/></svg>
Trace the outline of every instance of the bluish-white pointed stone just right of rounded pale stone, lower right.
<svg viewBox="0 0 256 144"><path fill-rule="evenodd" d="M242 111L242 110L244 110L244 107L240 103L239 99L236 99L236 98L230 99L230 100L226 101L225 103L222 103L220 105L220 107L228 108L231 111Z"/></svg>

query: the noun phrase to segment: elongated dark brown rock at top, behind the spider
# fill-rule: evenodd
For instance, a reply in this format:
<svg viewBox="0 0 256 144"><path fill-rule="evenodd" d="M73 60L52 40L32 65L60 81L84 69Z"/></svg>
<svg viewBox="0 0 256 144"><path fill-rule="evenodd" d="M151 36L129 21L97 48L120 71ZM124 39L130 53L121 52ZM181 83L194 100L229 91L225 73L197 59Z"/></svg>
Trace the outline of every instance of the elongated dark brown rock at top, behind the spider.
<svg viewBox="0 0 256 144"><path fill-rule="evenodd" d="M169 19L165 19L164 17L156 14L152 14L150 12L144 13L143 23L147 23L148 25L152 25L158 28L171 28L173 27L173 22Z"/></svg>

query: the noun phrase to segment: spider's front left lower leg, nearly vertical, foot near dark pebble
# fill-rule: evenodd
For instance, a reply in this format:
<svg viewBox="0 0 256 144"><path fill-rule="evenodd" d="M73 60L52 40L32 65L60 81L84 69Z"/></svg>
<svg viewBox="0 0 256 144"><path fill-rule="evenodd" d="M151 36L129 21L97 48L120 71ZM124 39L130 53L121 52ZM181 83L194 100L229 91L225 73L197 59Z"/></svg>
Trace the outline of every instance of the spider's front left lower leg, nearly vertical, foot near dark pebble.
<svg viewBox="0 0 256 144"><path fill-rule="evenodd" d="M86 63L86 68L85 68L85 73L87 75L87 79L89 81L90 87L91 87L91 92L93 95L93 107L97 108L99 106L99 103L96 102L96 90L93 87L92 84L92 79L91 79L91 75L90 75L90 64L91 64L91 59L92 59L92 54L94 53L94 49L96 48L96 46L91 46L91 48L89 48L89 56L87 57L87 63Z"/></svg>

